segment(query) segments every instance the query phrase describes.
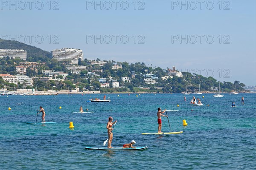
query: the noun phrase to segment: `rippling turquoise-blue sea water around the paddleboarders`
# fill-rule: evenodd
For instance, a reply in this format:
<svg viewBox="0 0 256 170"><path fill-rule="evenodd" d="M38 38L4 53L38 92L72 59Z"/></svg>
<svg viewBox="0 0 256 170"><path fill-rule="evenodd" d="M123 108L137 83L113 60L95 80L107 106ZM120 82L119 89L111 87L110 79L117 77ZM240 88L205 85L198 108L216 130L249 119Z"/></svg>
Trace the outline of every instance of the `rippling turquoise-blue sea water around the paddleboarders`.
<svg viewBox="0 0 256 170"><path fill-rule="evenodd" d="M119 96L118 96L119 95ZM0 96L0 167L13 169L255 169L255 94L195 95L204 106L189 105L192 94L106 94L108 103L87 103L104 94L58 96ZM204 96L204 98L202 98ZM241 105L244 96L245 105ZM191 99L190 99L191 98ZM237 107L232 108L232 102ZM177 107L177 104L180 107ZM206 104L210 106L207 107ZM47 122L35 122L39 106ZM59 109L59 106L62 109ZM79 111L95 113L71 113ZM8 108L12 108L11 111ZM179 110L162 117L163 132L173 135L141 135L157 132L157 108ZM193 111L191 111L193 110ZM108 117L117 120L113 147L135 140L141 151L85 150L102 146L108 139ZM182 120L188 126L184 127ZM38 116L41 121L41 114ZM69 122L75 126L69 128Z"/></svg>

